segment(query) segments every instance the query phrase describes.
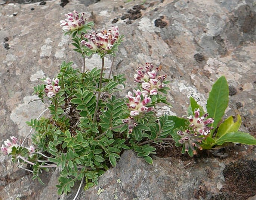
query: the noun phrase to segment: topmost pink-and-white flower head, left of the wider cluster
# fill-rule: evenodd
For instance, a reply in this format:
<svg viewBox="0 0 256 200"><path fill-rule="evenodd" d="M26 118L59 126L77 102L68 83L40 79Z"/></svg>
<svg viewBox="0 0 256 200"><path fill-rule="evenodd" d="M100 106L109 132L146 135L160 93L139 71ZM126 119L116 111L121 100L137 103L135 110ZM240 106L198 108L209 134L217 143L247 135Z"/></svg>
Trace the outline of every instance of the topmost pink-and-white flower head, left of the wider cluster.
<svg viewBox="0 0 256 200"><path fill-rule="evenodd" d="M65 32L80 29L85 23L85 13L78 14L78 12L74 10L72 13L65 14L65 16L66 19L60 21L62 30Z"/></svg>

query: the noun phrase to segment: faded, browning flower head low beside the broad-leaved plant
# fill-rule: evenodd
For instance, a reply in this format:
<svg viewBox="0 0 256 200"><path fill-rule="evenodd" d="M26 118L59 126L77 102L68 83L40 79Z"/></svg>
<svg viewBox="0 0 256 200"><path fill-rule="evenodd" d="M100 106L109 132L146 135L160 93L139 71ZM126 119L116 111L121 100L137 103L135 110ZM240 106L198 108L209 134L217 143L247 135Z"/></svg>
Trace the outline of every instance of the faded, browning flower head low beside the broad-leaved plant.
<svg viewBox="0 0 256 200"><path fill-rule="evenodd" d="M197 133L194 133L193 131L190 131L188 129L186 129L185 131L178 130L177 134L181 136L179 143L185 145L185 152L188 152L190 148L193 151L193 154L196 155L197 152L195 150L195 147L200 150L203 149L198 143L201 143L202 140L206 137L198 136Z"/></svg>

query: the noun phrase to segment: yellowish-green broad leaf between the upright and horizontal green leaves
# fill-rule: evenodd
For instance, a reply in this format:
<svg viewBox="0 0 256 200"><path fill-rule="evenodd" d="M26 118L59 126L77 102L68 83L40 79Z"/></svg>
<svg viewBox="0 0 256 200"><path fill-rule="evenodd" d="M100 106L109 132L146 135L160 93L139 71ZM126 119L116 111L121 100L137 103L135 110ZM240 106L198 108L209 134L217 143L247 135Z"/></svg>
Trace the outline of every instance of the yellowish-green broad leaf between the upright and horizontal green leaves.
<svg viewBox="0 0 256 200"><path fill-rule="evenodd" d="M237 115L237 121L234 122L232 116L227 118L218 128L216 138L222 137L226 133L237 132L241 126L242 120L240 115Z"/></svg>

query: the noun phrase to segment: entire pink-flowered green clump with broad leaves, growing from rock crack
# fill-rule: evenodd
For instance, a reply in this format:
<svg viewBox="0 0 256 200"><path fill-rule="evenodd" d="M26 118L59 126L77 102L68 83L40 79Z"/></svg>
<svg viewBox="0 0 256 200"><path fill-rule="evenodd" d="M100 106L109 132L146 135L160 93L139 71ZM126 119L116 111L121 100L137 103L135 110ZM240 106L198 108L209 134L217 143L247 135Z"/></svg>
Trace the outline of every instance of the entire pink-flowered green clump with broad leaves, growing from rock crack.
<svg viewBox="0 0 256 200"><path fill-rule="evenodd" d="M58 194L67 194L76 181L81 181L80 185L85 182L84 189L97 185L98 177L116 166L126 149L134 149L139 157L152 164L150 155L156 153L155 146L163 141L170 144L174 140L176 146L183 146L182 153L188 152L190 156L197 149L210 149L224 142L256 144L253 136L238 131L239 115L236 122L229 117L214 132L228 105L225 77L213 85L207 112L191 97L188 119L158 116L157 104L171 106L162 95L168 93L169 81L166 74L161 74L161 66L155 69L151 63L139 66L134 76L137 88L118 98L114 94L125 86L125 75L110 78L112 67L107 77L104 74L104 57L115 56L123 38L118 27L88 34L93 23L85 22L84 13L74 11L66 17L61 26L65 34L71 35L74 50L81 54L83 70L74 69L73 62L63 61L55 79L47 77L44 84L36 86L34 93L42 101L51 101L50 117L43 118L42 113L27 122L31 131L34 129L30 147L24 146L27 137L20 144L14 136L1 147L19 167L32 172L33 179L43 184L41 170L59 167ZM101 69L86 71L85 58L92 54L101 57ZM33 166L33 170L24 168L24 163Z"/></svg>

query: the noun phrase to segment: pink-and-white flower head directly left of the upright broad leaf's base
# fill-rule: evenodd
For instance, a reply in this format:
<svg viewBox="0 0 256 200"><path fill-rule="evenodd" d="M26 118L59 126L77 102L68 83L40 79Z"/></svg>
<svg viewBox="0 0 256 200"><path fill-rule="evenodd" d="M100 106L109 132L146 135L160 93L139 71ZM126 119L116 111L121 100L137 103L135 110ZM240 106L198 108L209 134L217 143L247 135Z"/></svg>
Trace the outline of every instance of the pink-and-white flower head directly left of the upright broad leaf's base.
<svg viewBox="0 0 256 200"><path fill-rule="evenodd" d="M192 115L188 117L190 122L189 127L191 127L195 133L207 136L213 129L213 127L208 127L207 125L214 122L214 118L206 119L208 115L209 114L206 112L205 114L203 114L203 116L200 117L200 109L198 108L194 112L194 117Z"/></svg>

